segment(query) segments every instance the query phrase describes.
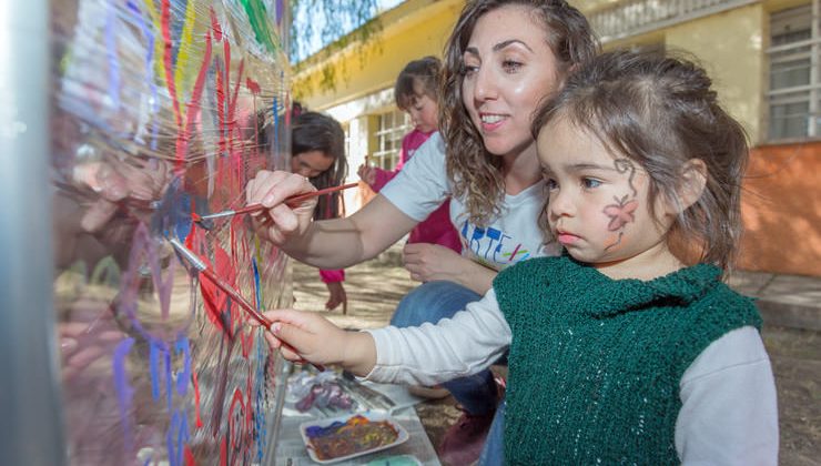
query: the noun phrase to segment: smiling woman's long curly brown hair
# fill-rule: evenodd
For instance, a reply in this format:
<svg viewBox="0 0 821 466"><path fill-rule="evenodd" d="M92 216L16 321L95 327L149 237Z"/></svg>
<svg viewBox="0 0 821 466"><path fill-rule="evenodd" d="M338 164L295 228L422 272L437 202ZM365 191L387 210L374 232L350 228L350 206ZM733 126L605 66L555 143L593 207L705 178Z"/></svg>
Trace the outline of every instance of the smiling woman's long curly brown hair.
<svg viewBox="0 0 821 466"><path fill-rule="evenodd" d="M463 55L479 18L507 6L530 8L544 21L545 40L556 55L560 75L598 51L587 19L564 0L474 0L462 10L445 47L439 128L447 146L447 174L454 181L454 195L466 199L469 220L478 225L501 214L505 180L501 158L487 152L463 103Z"/></svg>

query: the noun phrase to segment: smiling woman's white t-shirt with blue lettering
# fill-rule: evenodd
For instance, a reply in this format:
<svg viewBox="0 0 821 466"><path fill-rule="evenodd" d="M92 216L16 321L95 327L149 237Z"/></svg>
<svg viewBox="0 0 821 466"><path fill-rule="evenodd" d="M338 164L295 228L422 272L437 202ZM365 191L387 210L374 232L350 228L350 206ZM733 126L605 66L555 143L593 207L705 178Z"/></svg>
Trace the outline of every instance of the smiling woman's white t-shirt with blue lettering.
<svg viewBox="0 0 821 466"><path fill-rule="evenodd" d="M416 150L398 175L382 189L392 204L416 221L424 221L452 195L445 168L445 141L434 133ZM539 181L516 195L505 195L501 214L486 227L468 220L464 197L452 197L450 221L459 232L462 254L500 271L529 257L557 255L557 246L545 246L538 217L545 204L545 182Z"/></svg>

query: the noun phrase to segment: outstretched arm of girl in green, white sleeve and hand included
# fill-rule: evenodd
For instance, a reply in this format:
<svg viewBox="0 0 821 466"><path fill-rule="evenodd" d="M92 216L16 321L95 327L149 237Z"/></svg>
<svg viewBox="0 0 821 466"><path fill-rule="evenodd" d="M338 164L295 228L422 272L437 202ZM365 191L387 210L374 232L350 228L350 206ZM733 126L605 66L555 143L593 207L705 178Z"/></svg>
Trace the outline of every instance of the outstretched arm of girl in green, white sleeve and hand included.
<svg viewBox="0 0 821 466"><path fill-rule="evenodd" d="M316 313L283 310L265 315L275 322L266 338L285 358L341 364L377 382L447 382L488 367L510 343L510 327L493 290L453 318L419 327L346 332Z"/></svg>

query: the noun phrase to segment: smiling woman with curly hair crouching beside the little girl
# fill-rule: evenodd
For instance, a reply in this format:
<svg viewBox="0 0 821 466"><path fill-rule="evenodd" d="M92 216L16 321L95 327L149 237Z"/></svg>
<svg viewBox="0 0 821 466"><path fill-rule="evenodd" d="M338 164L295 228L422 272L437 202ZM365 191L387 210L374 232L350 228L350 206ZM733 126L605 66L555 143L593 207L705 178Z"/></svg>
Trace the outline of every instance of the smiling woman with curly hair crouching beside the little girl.
<svg viewBox="0 0 821 466"><path fill-rule="evenodd" d="M450 317L490 287L498 271L545 246L537 217L544 182L530 134L531 114L567 70L598 49L587 20L564 0L468 1L445 49L439 128L368 204L347 219L311 222L311 204L280 205L307 189L304 180L261 173L249 202L271 207L274 223L257 232L293 257L316 266L371 259L407 234L450 196L450 221L462 255L430 244L405 246L405 265L423 283L399 304L392 323L420 325ZM489 371L445 386L465 415L440 447L443 459L477 459L498 403ZM500 425L500 424L499 424ZM499 460L500 439L489 443Z"/></svg>

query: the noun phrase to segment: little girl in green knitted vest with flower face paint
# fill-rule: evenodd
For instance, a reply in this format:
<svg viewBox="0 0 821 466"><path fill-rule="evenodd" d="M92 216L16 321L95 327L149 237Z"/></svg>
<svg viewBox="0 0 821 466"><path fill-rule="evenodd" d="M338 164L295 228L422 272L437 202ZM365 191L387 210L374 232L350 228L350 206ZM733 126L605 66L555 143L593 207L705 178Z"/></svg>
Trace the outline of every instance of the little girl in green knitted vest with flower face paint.
<svg viewBox="0 0 821 466"><path fill-rule="evenodd" d="M534 119L559 257L523 261L452 320L343 332L273 311L290 358L433 384L509 347L508 464L778 462L753 303L721 282L740 233L746 135L691 62L581 65ZM688 265L687 257L696 257Z"/></svg>

